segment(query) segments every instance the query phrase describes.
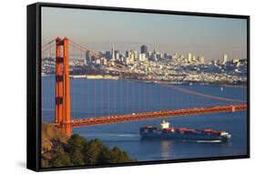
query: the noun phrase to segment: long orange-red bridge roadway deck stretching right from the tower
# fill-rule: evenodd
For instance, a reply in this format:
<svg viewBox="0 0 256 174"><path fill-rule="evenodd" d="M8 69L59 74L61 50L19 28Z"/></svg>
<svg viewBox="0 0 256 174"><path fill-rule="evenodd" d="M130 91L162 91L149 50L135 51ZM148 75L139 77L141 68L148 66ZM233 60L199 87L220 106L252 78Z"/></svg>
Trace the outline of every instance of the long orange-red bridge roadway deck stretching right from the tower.
<svg viewBox="0 0 256 174"><path fill-rule="evenodd" d="M100 118L73 119L70 124L72 128L79 128L79 127L87 127L87 126L113 124L118 122L138 121L138 120L145 120L145 119L151 119L151 118L182 117L182 116L202 115L202 114L220 113L220 112L235 112L235 111L242 111L242 110L247 110L247 105L185 108L185 109L177 109L177 110L158 111L158 112L144 112L144 113L117 115L117 116L107 116L107 117L100 117ZM51 123L51 124L59 126L59 124L56 124L56 123ZM69 124L69 123L66 123L66 124Z"/></svg>

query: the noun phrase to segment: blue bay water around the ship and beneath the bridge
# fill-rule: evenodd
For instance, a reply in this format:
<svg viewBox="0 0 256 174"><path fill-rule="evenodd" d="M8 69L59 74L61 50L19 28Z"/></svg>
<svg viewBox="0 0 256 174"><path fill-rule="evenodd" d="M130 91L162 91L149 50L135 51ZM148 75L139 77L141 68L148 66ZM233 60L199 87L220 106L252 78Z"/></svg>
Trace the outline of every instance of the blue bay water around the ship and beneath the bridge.
<svg viewBox="0 0 256 174"><path fill-rule="evenodd" d="M54 120L55 77L43 77L43 119ZM124 80L71 79L72 118L94 118L133 112L169 110L188 107L231 105L234 102L191 96L158 84ZM179 87L210 94L246 100L246 88L179 85ZM171 126L214 128L229 131L228 143L187 142L173 140L141 140L138 129L159 126L161 119L148 119L94 127L73 128L85 138L100 138L109 147L118 146L140 161L159 159L189 159L245 155L247 153L246 111L202 116L166 118Z"/></svg>

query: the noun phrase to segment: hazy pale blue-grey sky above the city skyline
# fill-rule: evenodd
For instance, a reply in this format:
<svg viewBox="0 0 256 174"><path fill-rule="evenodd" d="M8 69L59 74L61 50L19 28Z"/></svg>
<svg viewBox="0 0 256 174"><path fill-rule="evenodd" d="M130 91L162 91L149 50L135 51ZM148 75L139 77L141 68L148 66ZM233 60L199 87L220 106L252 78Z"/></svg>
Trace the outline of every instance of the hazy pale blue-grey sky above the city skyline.
<svg viewBox="0 0 256 174"><path fill-rule="evenodd" d="M42 8L42 44L67 36L94 51L192 53L206 60L246 58L246 19L159 15L70 8Z"/></svg>

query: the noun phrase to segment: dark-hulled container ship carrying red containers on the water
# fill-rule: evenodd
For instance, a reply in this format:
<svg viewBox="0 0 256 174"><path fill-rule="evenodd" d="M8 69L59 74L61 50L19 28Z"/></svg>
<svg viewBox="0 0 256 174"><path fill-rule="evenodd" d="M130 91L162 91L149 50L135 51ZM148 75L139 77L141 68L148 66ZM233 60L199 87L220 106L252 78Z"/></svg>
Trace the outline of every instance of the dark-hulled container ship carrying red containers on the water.
<svg viewBox="0 0 256 174"><path fill-rule="evenodd" d="M227 141L231 135L214 129L170 128L169 122L162 120L160 127L147 126L139 130L141 138L165 138L180 140Z"/></svg>

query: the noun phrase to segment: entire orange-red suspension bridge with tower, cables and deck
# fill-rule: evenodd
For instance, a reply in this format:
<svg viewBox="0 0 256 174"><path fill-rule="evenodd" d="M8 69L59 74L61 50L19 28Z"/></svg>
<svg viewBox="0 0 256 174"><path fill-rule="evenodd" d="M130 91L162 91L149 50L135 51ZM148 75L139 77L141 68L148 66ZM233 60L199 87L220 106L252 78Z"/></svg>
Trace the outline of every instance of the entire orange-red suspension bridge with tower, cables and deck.
<svg viewBox="0 0 256 174"><path fill-rule="evenodd" d="M113 124L119 122L129 122L145 120L150 118L169 118L169 117L182 117L191 115L203 115L210 113L220 113L220 112L235 112L247 110L247 101L226 97L216 97L208 94L203 94L200 92L192 91L183 87L177 87L169 84L161 84L162 87L170 87L180 92L199 96L208 97L211 99L216 99L220 101L230 101L240 103L239 105L228 105L228 106L214 106L214 107L194 107L194 108L182 108L174 110L162 110L162 111L151 111L151 112L138 112L132 114L122 114L113 115L97 118L83 118L83 119L72 119L70 112L70 80L69 80L69 46L77 48L82 54L87 51L90 52L93 59L100 58L100 56L85 46L81 46L76 42L65 38L57 37L42 46L42 55L46 51L50 51L55 47L56 55L56 82L55 82L55 121L49 124L54 125L62 132L65 132L68 136L72 134L72 128L103 125L103 124Z"/></svg>

